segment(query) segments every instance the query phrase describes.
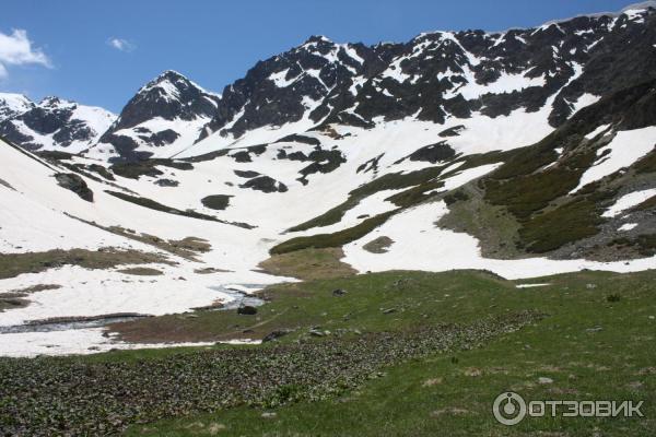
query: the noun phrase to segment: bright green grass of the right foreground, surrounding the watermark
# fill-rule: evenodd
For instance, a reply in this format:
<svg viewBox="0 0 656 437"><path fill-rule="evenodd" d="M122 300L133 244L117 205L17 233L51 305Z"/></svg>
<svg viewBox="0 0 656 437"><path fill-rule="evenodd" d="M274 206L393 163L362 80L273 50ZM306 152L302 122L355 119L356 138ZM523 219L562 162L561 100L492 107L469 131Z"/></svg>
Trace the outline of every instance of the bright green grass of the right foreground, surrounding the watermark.
<svg viewBox="0 0 656 437"><path fill-rule="evenodd" d="M273 418L261 417L261 410L239 408L136 426L131 435L652 435L655 275L582 272L549 277L549 287L524 290L469 272L384 273L307 284L317 294L333 286L349 290L333 302L353 305L358 316L347 324L368 330L470 321L527 308L550 316L483 349L394 366L384 377L339 398L279 408ZM400 290L389 288L395 283ZM372 298L366 307L358 299L361 293ZM620 300L608 302L611 294ZM406 310L379 311L391 306ZM343 311L327 309L329 317ZM554 382L539 385L539 377ZM507 428L495 424L490 408L508 389L527 399L644 400L646 418L527 418Z"/></svg>

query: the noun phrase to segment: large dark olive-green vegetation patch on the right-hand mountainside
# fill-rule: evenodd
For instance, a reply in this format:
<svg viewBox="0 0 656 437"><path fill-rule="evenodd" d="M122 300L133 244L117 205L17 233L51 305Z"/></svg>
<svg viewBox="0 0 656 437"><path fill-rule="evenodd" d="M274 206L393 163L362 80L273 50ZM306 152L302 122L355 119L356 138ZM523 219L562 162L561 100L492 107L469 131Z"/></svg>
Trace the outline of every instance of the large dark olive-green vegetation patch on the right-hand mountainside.
<svg viewBox="0 0 656 437"><path fill-rule="evenodd" d="M553 152L557 145L576 151L566 160L542 168L558 157ZM599 232L604 222L598 214L599 205L614 192L599 181L584 187L573 200L569 196L594 163L599 145L588 147L581 135L563 128L520 150L481 180L484 201L503 208L517 221L517 249L544 253Z"/></svg>

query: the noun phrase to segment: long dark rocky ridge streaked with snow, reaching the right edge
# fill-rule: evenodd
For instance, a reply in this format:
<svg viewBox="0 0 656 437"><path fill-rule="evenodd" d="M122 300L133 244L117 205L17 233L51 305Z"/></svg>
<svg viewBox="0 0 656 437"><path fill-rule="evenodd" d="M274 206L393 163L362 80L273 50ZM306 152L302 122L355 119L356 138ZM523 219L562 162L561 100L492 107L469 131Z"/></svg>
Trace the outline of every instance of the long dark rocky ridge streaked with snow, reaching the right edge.
<svg viewBox="0 0 656 437"><path fill-rule="evenodd" d="M207 139L183 155L321 123L372 127L408 117L445 123L542 109L555 128L600 96L654 78L649 4L529 29L426 33L406 44L312 37L227 86Z"/></svg>

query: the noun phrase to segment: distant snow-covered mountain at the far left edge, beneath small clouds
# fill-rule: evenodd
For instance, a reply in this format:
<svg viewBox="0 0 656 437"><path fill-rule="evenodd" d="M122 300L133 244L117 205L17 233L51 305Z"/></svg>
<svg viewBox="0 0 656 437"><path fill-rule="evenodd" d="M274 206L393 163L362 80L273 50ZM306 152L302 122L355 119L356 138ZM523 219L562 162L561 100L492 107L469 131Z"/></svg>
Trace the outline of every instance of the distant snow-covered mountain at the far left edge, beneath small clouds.
<svg viewBox="0 0 656 437"><path fill-rule="evenodd" d="M27 150L61 150L79 153L114 122L103 108L58 97L38 104L16 94L0 94L0 135Z"/></svg>

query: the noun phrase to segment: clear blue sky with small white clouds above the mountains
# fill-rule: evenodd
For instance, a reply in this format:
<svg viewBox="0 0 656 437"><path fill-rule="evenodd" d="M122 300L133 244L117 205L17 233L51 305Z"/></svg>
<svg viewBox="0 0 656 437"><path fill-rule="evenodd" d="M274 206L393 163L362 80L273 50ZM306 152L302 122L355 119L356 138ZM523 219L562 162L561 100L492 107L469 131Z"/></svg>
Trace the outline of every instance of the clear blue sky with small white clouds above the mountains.
<svg viewBox="0 0 656 437"><path fill-rule="evenodd" d="M33 99L58 95L119 111L163 70L180 71L206 88L221 92L258 60L313 34L339 43L405 42L425 31L529 27L582 13L619 11L629 3L3 0L0 91L24 93Z"/></svg>

